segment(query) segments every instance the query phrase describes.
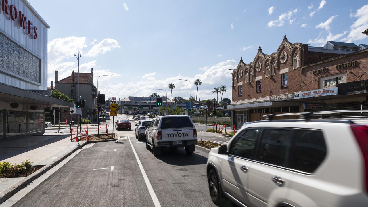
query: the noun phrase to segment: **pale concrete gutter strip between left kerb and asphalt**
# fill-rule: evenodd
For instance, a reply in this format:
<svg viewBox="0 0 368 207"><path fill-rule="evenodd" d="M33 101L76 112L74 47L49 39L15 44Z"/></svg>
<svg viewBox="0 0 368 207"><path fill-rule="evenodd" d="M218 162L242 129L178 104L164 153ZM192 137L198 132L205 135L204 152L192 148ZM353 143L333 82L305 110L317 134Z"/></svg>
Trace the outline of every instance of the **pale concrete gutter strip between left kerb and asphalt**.
<svg viewBox="0 0 368 207"><path fill-rule="evenodd" d="M40 185L43 181L45 181L48 177L50 177L54 172L59 170L62 166L64 166L68 161L70 161L75 155L77 155L80 151L83 149L79 149L75 151L73 154L69 155L67 158L65 158L63 161L61 161L59 164L51 168L49 171L45 172L45 174L41 175L36 180L33 180L31 184L29 184L24 189L20 190L18 193L14 194L14 196L11 196L8 200L6 200L4 203L2 203L1 207L11 207L15 203L17 203L19 200L21 200L26 194L31 192L31 190L35 189L38 185Z"/></svg>

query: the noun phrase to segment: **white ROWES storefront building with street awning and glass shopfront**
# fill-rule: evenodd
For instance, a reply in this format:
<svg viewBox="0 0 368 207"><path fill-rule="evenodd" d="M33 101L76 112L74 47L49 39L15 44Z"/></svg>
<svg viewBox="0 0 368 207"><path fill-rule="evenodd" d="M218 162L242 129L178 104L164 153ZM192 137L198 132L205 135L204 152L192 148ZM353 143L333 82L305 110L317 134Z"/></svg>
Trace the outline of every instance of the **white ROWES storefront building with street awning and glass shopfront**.
<svg viewBox="0 0 368 207"><path fill-rule="evenodd" d="M26 0L0 1L0 141L45 132L45 109L73 106L47 90L49 25Z"/></svg>

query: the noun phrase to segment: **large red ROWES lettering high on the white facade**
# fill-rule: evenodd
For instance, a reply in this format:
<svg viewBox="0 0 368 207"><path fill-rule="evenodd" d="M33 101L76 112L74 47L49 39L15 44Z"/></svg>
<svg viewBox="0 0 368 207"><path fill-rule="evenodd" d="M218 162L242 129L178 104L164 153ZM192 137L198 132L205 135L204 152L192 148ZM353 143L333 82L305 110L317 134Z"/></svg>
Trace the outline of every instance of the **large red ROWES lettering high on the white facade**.
<svg viewBox="0 0 368 207"><path fill-rule="evenodd" d="M11 20L19 21L21 28L26 29L27 26L27 34L31 35L33 39L37 39L37 27L32 27L33 24L31 20L27 21L27 17L25 17L21 11L18 11L14 4L9 6L8 0L1 0L1 12L9 15ZM18 26L18 24L15 25Z"/></svg>

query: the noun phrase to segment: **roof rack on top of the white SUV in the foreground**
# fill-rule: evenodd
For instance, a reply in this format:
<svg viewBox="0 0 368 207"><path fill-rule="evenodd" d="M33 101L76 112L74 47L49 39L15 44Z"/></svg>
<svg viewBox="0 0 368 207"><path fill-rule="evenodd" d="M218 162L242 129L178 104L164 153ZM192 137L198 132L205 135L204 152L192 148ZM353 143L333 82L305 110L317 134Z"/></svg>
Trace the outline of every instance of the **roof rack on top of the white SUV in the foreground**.
<svg viewBox="0 0 368 207"><path fill-rule="evenodd" d="M308 121L312 115L331 115L331 118L333 119L340 119L342 117L343 113L368 113L368 110L335 110L335 111L316 111L316 112L297 112L297 113L278 113L278 114L269 114L269 115L263 115L263 117L266 117L266 120L273 120L273 117L275 116L289 116L294 115L298 116L299 119L305 119ZM365 117L365 116L363 116Z"/></svg>

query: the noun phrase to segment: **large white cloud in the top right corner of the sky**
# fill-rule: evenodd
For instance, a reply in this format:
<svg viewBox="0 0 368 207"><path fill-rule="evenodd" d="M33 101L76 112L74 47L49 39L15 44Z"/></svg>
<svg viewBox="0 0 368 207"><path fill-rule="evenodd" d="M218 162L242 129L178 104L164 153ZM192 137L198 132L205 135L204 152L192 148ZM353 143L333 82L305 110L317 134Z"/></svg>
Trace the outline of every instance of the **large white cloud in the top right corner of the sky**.
<svg viewBox="0 0 368 207"><path fill-rule="evenodd" d="M354 42L367 38L362 32L368 28L368 4L357 10L353 17L358 19L350 26L350 33L342 41Z"/></svg>

